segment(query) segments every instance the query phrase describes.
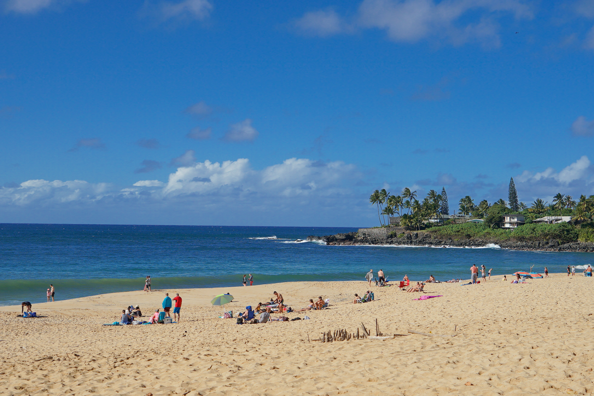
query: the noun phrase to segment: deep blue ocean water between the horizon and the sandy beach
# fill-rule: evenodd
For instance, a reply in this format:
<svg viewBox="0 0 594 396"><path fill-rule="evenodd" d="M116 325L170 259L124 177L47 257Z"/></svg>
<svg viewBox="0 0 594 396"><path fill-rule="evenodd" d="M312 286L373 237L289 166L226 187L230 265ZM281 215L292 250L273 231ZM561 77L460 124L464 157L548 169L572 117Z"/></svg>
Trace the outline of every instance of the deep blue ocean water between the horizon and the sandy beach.
<svg viewBox="0 0 594 396"><path fill-rule="evenodd" d="M331 227L131 226L97 224L0 224L0 305L153 289L241 286L283 281L363 280L382 268L391 280L407 274L425 280L469 278L485 264L494 274L520 270L564 272L591 264L592 253L505 249L326 246L308 235L355 231ZM270 237L276 237L271 239ZM268 239L257 239L268 238Z"/></svg>

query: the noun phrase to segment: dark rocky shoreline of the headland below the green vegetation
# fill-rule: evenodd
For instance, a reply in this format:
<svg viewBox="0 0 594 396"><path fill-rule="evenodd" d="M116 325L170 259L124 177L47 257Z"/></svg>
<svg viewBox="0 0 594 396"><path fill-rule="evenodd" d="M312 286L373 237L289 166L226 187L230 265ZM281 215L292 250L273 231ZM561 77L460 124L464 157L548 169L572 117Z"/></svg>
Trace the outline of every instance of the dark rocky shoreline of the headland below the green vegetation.
<svg viewBox="0 0 594 396"><path fill-rule="evenodd" d="M426 231L409 231L402 227L362 228L358 232L345 234L308 236L312 242L324 242L326 245L400 245L400 246L433 246L456 248L481 248L498 245L502 249L522 251L551 252L594 252L594 243L569 242L557 239L550 240L486 240L449 238Z"/></svg>

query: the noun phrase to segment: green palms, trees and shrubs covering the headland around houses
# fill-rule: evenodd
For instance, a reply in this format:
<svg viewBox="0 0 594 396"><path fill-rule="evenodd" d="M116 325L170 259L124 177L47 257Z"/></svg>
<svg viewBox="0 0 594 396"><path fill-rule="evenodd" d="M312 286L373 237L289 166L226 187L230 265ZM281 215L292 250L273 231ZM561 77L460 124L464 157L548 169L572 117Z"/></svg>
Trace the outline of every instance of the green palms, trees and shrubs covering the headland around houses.
<svg viewBox="0 0 594 396"><path fill-rule="evenodd" d="M557 239L561 243L594 242L594 195L580 196L574 201L570 195L557 194L549 204L536 198L528 207L518 201L516 185L510 179L508 202L498 199L489 204L486 199L475 205L469 195L460 199L458 214L479 218L481 223L466 223L467 218L444 219L449 211L445 188L441 194L430 190L426 197L417 198L416 191L403 189L400 195L390 195L385 189L375 190L369 202L377 205L380 227L390 227L384 216L399 216L400 226L409 230L427 230L436 236L455 239L490 239L490 240L548 240ZM385 204L385 207L384 207ZM525 224L514 229L500 229L503 217L509 214L521 214ZM555 224L533 223L544 216L570 216L570 222ZM445 221L442 221L445 220Z"/></svg>

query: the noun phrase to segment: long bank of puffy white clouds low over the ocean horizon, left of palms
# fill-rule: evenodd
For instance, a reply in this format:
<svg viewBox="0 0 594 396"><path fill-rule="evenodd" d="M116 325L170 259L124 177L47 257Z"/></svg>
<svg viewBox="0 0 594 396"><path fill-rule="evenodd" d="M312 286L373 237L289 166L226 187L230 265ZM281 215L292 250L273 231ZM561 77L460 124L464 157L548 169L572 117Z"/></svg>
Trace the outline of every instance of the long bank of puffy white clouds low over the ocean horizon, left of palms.
<svg viewBox="0 0 594 396"><path fill-rule="evenodd" d="M168 212L179 213L178 218L184 224L191 224L189 214L194 219L208 218L218 224L225 217L229 217L226 223L231 224L238 224L240 218L252 219L244 220L248 224L270 223L285 214L287 219L293 219L293 224L306 225L304 218L309 224L323 224L319 220L321 217L330 218L344 210L359 211L359 198L353 185L361 179L355 166L341 161L325 163L292 158L261 170L253 169L248 159L222 163L204 161L178 167L166 182L139 180L127 188L81 180L28 180L10 188L0 188L0 208L11 207L11 216L19 208L22 213L28 213L31 208L49 207L56 211L77 207L84 213L88 212L86 208L94 211L118 208L121 213L140 211L143 213L141 221L154 221L146 216ZM372 218L367 196L365 194L361 199L361 213ZM328 211L329 207L336 211ZM296 217L298 210L302 212ZM168 220L163 221L171 224ZM194 221L196 224L200 220Z"/></svg>

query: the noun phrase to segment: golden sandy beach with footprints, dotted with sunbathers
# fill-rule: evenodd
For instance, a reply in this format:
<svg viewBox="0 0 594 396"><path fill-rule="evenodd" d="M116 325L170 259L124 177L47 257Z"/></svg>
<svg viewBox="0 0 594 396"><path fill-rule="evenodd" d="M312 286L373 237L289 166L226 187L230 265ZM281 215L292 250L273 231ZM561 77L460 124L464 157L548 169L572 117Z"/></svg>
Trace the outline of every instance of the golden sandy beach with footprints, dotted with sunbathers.
<svg viewBox="0 0 594 396"><path fill-rule="evenodd" d="M420 301L421 293L372 287L375 301L356 305L363 281L102 294L34 304L34 319L18 317L20 306L1 307L0 394L590 394L594 279L528 282L497 275L475 286L426 284L427 295L443 297ZM210 305L229 292L235 300L225 308L236 312L274 290L293 309L317 296L331 306L286 314L311 320L237 325ZM150 315L165 292L184 299L179 324L102 326L127 305ZM407 335L311 341L324 331L356 332L361 322L375 335L375 319L384 334Z"/></svg>

